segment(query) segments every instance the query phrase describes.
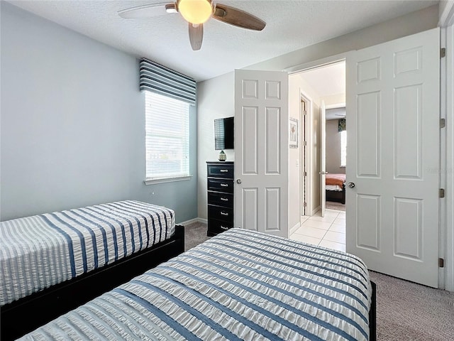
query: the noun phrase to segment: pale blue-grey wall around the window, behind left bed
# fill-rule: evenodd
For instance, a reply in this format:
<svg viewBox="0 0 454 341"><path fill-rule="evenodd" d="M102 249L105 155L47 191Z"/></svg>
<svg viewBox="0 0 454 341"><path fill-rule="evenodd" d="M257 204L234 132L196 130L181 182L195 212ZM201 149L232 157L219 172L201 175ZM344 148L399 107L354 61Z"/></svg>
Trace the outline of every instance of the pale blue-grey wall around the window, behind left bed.
<svg viewBox="0 0 454 341"><path fill-rule="evenodd" d="M143 200L197 216L192 180L145 185L138 60L1 1L0 219Z"/></svg>

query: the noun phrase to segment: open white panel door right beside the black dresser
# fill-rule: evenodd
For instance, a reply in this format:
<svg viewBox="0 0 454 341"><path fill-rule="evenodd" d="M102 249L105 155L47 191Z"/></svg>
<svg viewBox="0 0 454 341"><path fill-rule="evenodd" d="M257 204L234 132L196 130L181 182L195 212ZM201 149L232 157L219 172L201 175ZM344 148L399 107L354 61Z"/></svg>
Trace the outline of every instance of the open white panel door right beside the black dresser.
<svg viewBox="0 0 454 341"><path fill-rule="evenodd" d="M235 227L288 236L288 75L235 71Z"/></svg>

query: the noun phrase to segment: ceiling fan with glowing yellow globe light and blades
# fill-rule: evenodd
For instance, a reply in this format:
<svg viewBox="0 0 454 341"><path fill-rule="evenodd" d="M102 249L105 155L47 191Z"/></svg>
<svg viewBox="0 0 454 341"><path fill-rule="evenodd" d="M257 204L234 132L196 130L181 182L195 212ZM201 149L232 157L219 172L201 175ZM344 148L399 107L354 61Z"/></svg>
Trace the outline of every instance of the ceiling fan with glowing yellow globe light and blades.
<svg viewBox="0 0 454 341"><path fill-rule="evenodd" d="M177 0L118 11L121 18L151 18L166 13L180 13L189 23L192 50L200 50L204 38L204 23L209 18L254 31L262 31L266 26L265 21L250 13L223 4L213 4L211 0Z"/></svg>

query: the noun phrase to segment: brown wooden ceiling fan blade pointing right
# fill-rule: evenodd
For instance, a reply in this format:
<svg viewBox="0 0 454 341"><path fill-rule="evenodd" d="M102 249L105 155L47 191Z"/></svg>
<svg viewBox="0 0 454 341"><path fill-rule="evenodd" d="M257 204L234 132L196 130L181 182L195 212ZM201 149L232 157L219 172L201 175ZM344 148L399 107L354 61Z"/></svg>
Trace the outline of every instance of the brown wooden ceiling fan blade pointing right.
<svg viewBox="0 0 454 341"><path fill-rule="evenodd" d="M265 21L262 21L262 19L257 18L248 12L222 4L216 4L212 17L218 21L223 21L224 23L230 23L233 26L248 28L254 31L262 31L267 24Z"/></svg>

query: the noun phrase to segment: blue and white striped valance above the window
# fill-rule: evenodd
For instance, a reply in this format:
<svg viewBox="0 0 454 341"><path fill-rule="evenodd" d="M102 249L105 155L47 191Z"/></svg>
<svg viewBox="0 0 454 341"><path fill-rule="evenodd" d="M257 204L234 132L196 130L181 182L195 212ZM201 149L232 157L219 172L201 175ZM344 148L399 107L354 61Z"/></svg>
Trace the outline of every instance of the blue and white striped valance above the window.
<svg viewBox="0 0 454 341"><path fill-rule="evenodd" d="M149 90L189 104L196 102L196 81L148 59L140 60L140 91Z"/></svg>

